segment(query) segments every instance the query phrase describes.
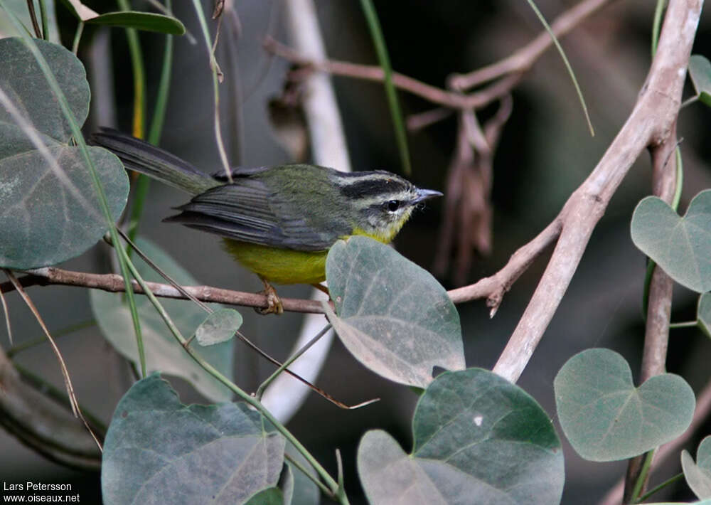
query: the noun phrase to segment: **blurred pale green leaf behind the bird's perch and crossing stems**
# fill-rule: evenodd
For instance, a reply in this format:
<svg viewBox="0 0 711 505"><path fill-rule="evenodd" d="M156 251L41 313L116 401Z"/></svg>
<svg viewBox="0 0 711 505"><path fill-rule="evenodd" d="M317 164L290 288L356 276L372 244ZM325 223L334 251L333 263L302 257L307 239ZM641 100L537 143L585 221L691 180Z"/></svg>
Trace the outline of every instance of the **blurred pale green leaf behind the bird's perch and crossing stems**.
<svg viewBox="0 0 711 505"><path fill-rule="evenodd" d="M164 272L173 277L178 284L183 286L199 284L156 245L140 238L137 243L139 248ZM134 264L145 280L156 282L163 280L140 258L137 257ZM131 331L131 314L124 304L123 294L92 289L89 297L92 312L102 334L114 346L114 349L134 363L138 363L136 340ZM161 304L183 335L195 333L197 327L205 319L205 311L189 300L161 299ZM182 377L210 400L225 401L232 398L230 390L204 371L178 344L147 297L137 297L136 305L141 318L146 367L149 371L161 371ZM218 307L220 306L213 306L213 308ZM220 373L232 380L234 341L208 347L193 346L193 349L217 368Z"/></svg>

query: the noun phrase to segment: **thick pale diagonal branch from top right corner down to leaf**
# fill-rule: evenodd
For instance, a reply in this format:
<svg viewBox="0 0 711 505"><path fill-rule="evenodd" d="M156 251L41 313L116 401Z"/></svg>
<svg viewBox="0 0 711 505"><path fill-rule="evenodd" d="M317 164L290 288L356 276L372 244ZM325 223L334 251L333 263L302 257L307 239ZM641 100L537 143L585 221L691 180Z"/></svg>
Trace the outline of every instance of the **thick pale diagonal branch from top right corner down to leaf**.
<svg viewBox="0 0 711 505"><path fill-rule="evenodd" d="M634 110L592 174L557 216L562 228L550 262L493 368L508 380L517 381L533 355L577 270L595 225L632 163L646 147L673 140L700 11L699 0L670 0L659 48Z"/></svg>

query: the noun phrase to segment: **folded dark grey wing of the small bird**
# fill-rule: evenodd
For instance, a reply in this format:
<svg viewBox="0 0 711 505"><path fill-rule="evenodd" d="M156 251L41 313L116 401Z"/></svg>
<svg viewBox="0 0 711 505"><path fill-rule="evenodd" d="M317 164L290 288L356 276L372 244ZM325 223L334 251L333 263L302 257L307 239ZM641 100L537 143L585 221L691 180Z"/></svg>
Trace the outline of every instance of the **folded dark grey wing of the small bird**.
<svg viewBox="0 0 711 505"><path fill-rule="evenodd" d="M326 250L340 235L346 234L309 223L303 208L281 201L263 181L250 177L211 188L178 210L182 212L166 221L277 248Z"/></svg>

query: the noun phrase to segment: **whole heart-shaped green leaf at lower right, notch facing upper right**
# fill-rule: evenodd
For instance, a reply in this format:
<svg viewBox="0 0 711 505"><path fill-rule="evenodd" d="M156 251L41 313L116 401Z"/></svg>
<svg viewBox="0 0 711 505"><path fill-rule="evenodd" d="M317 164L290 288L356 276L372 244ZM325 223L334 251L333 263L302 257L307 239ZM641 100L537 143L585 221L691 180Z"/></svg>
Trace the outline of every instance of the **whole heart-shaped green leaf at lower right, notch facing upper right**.
<svg viewBox="0 0 711 505"><path fill-rule="evenodd" d="M609 349L576 354L553 386L565 436L591 461L627 459L669 442L694 413L694 392L683 378L663 373L635 388L629 365Z"/></svg>

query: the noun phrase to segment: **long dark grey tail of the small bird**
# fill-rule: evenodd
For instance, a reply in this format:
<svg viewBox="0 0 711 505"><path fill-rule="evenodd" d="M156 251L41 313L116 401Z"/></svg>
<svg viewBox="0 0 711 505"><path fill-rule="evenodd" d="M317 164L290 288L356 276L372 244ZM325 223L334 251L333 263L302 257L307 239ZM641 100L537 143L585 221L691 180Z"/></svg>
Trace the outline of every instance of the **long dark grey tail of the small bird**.
<svg viewBox="0 0 711 505"><path fill-rule="evenodd" d="M119 156L124 166L191 194L219 186L212 176L187 161L130 135L111 128L92 134L90 142Z"/></svg>

